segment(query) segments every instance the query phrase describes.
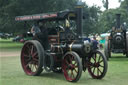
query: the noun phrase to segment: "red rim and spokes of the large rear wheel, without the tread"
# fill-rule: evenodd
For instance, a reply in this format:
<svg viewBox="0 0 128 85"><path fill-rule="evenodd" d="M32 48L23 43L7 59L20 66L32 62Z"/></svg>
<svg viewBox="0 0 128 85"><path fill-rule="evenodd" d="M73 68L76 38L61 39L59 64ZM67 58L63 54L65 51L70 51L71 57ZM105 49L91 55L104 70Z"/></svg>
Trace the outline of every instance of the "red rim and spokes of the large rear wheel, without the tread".
<svg viewBox="0 0 128 85"><path fill-rule="evenodd" d="M21 64L27 75L34 75L39 68L38 51L33 43L26 43L21 52Z"/></svg>

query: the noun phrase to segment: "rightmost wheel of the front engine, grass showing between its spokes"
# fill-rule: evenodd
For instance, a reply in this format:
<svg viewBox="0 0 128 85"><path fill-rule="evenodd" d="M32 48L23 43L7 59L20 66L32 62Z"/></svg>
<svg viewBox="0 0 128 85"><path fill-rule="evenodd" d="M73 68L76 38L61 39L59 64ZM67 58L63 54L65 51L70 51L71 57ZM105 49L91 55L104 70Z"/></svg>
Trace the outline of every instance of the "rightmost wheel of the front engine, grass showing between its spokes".
<svg viewBox="0 0 128 85"><path fill-rule="evenodd" d="M107 59L101 51L96 51L89 58L88 72L95 79L102 79L107 72Z"/></svg>

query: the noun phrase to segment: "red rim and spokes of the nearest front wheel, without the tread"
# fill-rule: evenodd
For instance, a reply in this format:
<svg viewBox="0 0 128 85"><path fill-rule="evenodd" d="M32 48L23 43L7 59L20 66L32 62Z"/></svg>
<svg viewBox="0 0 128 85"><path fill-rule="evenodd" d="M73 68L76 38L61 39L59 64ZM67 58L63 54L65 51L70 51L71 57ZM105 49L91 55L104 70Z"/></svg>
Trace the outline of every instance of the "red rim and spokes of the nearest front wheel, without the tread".
<svg viewBox="0 0 128 85"><path fill-rule="evenodd" d="M75 81L79 75L79 63L76 58L67 54L63 59L62 70L64 72L64 76L68 81Z"/></svg>

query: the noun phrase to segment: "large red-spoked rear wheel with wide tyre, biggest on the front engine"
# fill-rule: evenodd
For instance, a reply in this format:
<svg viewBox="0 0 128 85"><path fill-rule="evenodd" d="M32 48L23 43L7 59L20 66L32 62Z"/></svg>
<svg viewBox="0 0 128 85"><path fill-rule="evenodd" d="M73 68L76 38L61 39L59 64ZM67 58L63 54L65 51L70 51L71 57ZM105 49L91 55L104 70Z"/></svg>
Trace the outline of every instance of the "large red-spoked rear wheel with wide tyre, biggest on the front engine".
<svg viewBox="0 0 128 85"><path fill-rule="evenodd" d="M42 72L44 50L36 40L25 42L21 51L21 65L27 75L37 76Z"/></svg>

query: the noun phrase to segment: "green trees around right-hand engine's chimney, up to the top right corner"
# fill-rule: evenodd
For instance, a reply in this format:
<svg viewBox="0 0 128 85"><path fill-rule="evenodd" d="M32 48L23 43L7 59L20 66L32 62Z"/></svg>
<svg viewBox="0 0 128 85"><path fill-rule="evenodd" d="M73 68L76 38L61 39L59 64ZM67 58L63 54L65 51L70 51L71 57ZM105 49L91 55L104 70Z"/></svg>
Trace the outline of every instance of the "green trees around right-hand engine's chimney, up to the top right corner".
<svg viewBox="0 0 128 85"><path fill-rule="evenodd" d="M128 26L128 0L119 0L120 7L116 9L108 9L105 10L99 17L99 31L107 32L111 30L113 26L115 26L115 14L121 14L121 24L124 22L127 23Z"/></svg>

